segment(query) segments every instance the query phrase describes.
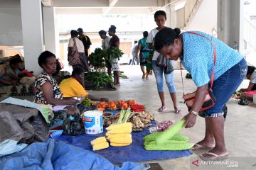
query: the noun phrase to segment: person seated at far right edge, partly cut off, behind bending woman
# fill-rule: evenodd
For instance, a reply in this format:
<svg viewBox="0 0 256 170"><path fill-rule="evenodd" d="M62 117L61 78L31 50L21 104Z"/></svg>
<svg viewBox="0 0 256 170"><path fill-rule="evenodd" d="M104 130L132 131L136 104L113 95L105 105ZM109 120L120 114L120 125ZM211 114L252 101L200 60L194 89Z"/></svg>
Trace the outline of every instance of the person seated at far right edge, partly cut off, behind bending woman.
<svg viewBox="0 0 256 170"><path fill-rule="evenodd" d="M244 100L244 98L246 98L248 101L252 101L253 95L256 95L256 69L255 69L255 67L253 67L253 66L247 67L246 79L250 79L250 83L246 89L239 90L239 91L242 91L241 100Z"/></svg>

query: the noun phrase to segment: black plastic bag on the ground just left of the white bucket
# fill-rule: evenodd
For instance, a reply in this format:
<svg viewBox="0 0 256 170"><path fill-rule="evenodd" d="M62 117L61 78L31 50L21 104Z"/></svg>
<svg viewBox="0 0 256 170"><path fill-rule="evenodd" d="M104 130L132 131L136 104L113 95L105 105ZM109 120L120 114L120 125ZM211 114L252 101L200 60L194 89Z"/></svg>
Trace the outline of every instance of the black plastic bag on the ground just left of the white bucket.
<svg viewBox="0 0 256 170"><path fill-rule="evenodd" d="M85 128L79 114L70 115L65 119L62 128L64 130L63 135L76 136L85 134Z"/></svg>

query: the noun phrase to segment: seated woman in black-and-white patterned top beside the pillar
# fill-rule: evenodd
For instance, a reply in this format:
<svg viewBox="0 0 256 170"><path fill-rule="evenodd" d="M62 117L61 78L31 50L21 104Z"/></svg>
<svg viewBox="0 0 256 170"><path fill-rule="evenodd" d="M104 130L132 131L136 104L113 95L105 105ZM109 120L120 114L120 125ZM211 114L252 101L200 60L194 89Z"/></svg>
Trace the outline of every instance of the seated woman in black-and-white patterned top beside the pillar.
<svg viewBox="0 0 256 170"><path fill-rule="evenodd" d="M63 99L60 88L52 74L56 71L56 57L52 52L42 52L38 57L38 64L43 72L36 79L35 103L53 105L53 111L68 109L68 115L79 113L75 104L78 100L74 98Z"/></svg>

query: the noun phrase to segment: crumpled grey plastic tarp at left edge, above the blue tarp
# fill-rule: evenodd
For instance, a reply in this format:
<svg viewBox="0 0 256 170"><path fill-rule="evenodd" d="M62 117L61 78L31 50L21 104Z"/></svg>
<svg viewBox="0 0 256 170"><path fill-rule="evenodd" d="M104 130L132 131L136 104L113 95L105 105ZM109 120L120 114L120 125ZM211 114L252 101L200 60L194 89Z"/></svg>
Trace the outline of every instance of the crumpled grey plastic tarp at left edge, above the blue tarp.
<svg viewBox="0 0 256 170"><path fill-rule="evenodd" d="M48 139L48 124L35 108L0 103L0 142L15 140L31 144Z"/></svg>

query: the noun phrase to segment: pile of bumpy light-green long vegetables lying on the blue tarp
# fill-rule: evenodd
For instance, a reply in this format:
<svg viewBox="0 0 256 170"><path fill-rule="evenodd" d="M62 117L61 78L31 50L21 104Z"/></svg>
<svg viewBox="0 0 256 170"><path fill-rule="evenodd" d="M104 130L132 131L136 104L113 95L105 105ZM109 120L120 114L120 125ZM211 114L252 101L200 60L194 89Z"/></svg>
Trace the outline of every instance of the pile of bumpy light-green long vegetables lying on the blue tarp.
<svg viewBox="0 0 256 170"><path fill-rule="evenodd" d="M144 137L144 148L146 150L185 150L191 149L193 143L188 142L188 137L179 133L174 134L164 143L158 144L156 140L164 132L155 132Z"/></svg>

